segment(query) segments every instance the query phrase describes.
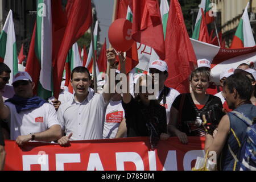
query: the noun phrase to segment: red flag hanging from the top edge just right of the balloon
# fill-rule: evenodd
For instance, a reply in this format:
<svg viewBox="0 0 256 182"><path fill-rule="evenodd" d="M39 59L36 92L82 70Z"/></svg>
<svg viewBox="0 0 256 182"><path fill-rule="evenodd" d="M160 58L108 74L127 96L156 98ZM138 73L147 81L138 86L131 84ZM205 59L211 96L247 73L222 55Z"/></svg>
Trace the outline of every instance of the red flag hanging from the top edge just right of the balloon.
<svg viewBox="0 0 256 182"><path fill-rule="evenodd" d="M133 39L155 49L165 59L163 26L158 1L133 0Z"/></svg>

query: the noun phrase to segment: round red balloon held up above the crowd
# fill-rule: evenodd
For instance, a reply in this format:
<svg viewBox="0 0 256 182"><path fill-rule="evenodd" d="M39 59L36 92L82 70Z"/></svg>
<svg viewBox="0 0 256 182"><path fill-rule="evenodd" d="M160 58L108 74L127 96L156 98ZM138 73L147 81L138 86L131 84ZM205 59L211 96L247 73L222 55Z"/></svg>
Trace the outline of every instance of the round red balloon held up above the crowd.
<svg viewBox="0 0 256 182"><path fill-rule="evenodd" d="M109 27L109 42L116 51L126 52L133 45L131 38L131 22L120 18Z"/></svg>

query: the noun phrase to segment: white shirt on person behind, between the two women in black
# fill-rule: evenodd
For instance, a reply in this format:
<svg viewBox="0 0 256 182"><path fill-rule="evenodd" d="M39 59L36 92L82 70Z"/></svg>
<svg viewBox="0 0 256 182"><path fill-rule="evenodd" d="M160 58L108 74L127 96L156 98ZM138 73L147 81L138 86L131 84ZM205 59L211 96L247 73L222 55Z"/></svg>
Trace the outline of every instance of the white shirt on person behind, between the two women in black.
<svg viewBox="0 0 256 182"><path fill-rule="evenodd" d="M166 119L167 119L167 125L169 123L169 119L170 119L170 110L171 110L171 106L172 106L172 102L174 102L175 98L177 96L179 96L179 92L173 88L170 88L170 92L169 94L166 96L166 105L163 105L163 100L160 102L160 105L166 107ZM159 90L159 96L160 96L160 93L162 93L163 90ZM158 97L159 97L158 96ZM158 99L158 98L156 98Z"/></svg>

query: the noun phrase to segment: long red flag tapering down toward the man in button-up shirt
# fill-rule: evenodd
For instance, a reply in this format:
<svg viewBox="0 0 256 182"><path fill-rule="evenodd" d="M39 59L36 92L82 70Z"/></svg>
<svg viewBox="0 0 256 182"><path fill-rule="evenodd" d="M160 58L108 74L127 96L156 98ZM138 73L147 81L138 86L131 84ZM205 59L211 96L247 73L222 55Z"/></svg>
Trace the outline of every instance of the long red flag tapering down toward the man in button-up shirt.
<svg viewBox="0 0 256 182"><path fill-rule="evenodd" d="M54 96L59 97L61 78L69 49L85 33L92 24L92 5L90 0L76 0L71 8L67 28L61 42L60 51L55 64L57 76L53 77Z"/></svg>

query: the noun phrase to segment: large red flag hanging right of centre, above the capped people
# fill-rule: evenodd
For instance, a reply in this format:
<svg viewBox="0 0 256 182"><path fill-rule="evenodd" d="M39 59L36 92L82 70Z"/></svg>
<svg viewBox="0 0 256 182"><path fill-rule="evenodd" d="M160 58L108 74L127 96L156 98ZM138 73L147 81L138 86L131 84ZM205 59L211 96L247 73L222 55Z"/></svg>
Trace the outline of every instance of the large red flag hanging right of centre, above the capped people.
<svg viewBox="0 0 256 182"><path fill-rule="evenodd" d="M189 75L196 67L196 55L185 27L180 3L172 0L166 31L166 85L180 93L189 92Z"/></svg>

